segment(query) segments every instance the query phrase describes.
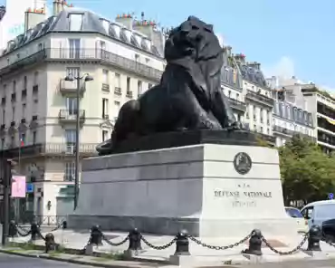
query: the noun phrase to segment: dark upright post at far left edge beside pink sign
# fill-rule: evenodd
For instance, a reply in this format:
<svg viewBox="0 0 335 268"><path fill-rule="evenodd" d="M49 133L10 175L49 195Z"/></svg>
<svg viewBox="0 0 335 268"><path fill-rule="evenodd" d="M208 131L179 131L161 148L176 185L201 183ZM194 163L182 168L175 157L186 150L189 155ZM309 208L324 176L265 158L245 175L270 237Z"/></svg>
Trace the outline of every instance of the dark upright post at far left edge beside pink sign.
<svg viewBox="0 0 335 268"><path fill-rule="evenodd" d="M3 224L3 239L2 244L7 244L8 240L8 227L9 227L9 198L10 198L10 187L12 182L12 160L3 158L3 186L4 186L4 224Z"/></svg>

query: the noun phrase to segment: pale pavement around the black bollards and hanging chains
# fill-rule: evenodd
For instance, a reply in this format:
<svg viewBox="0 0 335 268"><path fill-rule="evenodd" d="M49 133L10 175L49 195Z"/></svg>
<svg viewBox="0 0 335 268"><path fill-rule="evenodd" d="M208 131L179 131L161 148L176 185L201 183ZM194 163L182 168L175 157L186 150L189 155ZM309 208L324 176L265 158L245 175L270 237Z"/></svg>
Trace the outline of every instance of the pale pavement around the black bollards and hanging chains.
<svg viewBox="0 0 335 268"><path fill-rule="evenodd" d="M43 230L42 230L43 231ZM103 234L110 239L113 243L118 243L124 239L128 234L122 232L103 232ZM46 235L46 233L43 233ZM55 236L55 242L62 244L65 249L72 249L80 251L84 248L90 238L90 231L73 231L73 230L57 230L53 232ZM148 240L150 244L164 245L168 244L174 237L168 235L146 235L143 236ZM265 237L266 238L266 237ZM236 239L219 239L219 238L208 238L203 239L203 242L210 245L226 245L234 244L241 240L241 237ZM26 243L29 241L28 237L17 237L14 239L16 243ZM277 237L269 240L276 249L286 252L292 250L298 244L302 242L302 235L296 237ZM44 245L43 240L36 241L35 244ZM120 246L110 246L106 242L103 242L102 246L95 247L93 251L96 254L122 254L128 249L129 242ZM307 254L304 251L298 251L295 254L290 255L279 255L273 253L269 248L263 247L263 256L256 258L254 256L241 254L242 250L247 248L248 244L241 244L234 248L217 251L209 249L204 246L198 245L192 241L189 241L189 252L191 254L192 262L197 265L213 265L218 266L222 264L241 264L241 263L278 263L287 261L299 261L308 259L329 259L335 258L335 247L330 244L321 242L321 253L315 253L313 255ZM167 264L170 261L170 255L173 255L176 251L176 244L162 249L155 250L142 242L143 251L134 257L135 261L141 262L155 262ZM303 244L302 249L307 248L307 243Z"/></svg>

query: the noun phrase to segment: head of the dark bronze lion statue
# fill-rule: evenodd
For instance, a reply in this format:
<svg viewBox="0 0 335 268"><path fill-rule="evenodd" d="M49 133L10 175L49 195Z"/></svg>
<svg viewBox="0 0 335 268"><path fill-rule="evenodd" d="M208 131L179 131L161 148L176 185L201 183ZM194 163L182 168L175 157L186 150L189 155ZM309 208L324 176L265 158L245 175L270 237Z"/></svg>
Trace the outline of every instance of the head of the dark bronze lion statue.
<svg viewBox="0 0 335 268"><path fill-rule="evenodd" d="M181 58L206 61L222 58L222 47L214 34L213 25L206 24L195 16L173 29L165 45L165 58L168 62Z"/></svg>

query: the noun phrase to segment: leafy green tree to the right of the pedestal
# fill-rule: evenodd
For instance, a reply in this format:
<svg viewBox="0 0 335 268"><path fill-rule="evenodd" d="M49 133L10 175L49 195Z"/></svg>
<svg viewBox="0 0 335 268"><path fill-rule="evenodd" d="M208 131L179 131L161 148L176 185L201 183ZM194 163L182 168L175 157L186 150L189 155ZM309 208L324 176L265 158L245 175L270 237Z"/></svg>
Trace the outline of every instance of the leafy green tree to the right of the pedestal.
<svg viewBox="0 0 335 268"><path fill-rule="evenodd" d="M285 204L326 199L335 189L335 158L324 154L311 139L293 136L279 148Z"/></svg>

